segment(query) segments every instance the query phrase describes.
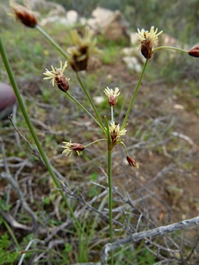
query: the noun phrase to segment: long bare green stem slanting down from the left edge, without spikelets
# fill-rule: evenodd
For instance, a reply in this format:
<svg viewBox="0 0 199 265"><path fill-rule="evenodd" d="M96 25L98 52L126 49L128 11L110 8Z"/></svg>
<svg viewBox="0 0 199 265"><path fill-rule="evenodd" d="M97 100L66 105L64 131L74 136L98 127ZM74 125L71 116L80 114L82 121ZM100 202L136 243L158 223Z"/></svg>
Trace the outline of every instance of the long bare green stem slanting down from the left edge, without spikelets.
<svg viewBox="0 0 199 265"><path fill-rule="evenodd" d="M46 164L46 168L48 168L48 171L51 175L51 177L53 178L53 181L55 182L55 185L57 186L57 188L59 189L59 193L61 194L61 197L63 198L66 206L68 207L68 210L70 211L70 215L73 217L76 226L82 231L82 233L84 233L84 230L82 230L82 226L79 224L79 222L77 221L77 218L75 217L74 213L73 213L73 209L70 207L70 204L68 203L64 192L61 190L61 186L59 184L59 181L57 180L57 177L55 176L55 173L53 172L53 168L50 165L50 161L48 160L48 157L46 156L46 153L44 152L43 148L41 147L41 144L39 142L39 139L37 138L37 134L35 133L34 127L32 126L32 122L30 121L30 118L28 116L28 112L26 110L25 105L23 104L23 100L21 98L20 92L19 92L19 88L17 87L17 83L15 81L15 77L12 73L12 69L10 67L10 63L8 61L8 56L6 54L6 50L3 47L3 43L1 42L1 37L0 37L0 52L1 52L1 57L3 59L3 63L5 65L5 68L7 70L8 73L8 77L10 79L10 83L12 84L12 88L15 91L15 95L17 97L17 101L19 103L19 106L21 108L21 112L23 113L23 117L26 120L26 124L28 125L28 128L30 130L30 133L32 135L32 138L35 141L35 144L37 145L37 148L39 150L39 153L42 157L42 159L44 160L44 163ZM86 234L84 233L84 235L86 236Z"/></svg>

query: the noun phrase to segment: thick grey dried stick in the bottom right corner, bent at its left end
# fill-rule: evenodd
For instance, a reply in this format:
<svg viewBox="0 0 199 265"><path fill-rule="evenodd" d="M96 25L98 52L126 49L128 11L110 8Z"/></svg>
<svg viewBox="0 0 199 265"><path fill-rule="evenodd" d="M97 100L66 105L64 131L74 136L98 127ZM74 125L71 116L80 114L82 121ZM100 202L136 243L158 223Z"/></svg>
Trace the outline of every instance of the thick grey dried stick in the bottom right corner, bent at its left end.
<svg viewBox="0 0 199 265"><path fill-rule="evenodd" d="M112 244L106 244L101 252L101 263L102 265L107 264L108 253L110 251L114 251L117 248L120 248L124 244L133 244L138 242L141 239L146 239L147 237L155 237L156 235L164 235L167 233L171 233L173 231L182 230L184 228L190 226L198 226L199 225L199 217L194 217L192 219L183 220L181 222L175 224L169 224L169 226L160 226L158 228L154 228L151 230L143 231L140 233L135 233L130 237L126 237L124 239L119 239Z"/></svg>

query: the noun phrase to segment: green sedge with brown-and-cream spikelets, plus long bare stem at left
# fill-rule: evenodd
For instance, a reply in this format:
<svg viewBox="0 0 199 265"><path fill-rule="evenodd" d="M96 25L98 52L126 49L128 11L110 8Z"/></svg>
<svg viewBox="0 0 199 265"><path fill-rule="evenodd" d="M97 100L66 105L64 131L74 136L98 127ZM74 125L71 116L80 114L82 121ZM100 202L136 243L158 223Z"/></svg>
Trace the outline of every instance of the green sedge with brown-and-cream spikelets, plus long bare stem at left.
<svg viewBox="0 0 199 265"><path fill-rule="evenodd" d="M114 108L117 106L117 98L120 97L120 90L119 88L104 88L104 94L108 98L107 104L110 106L110 115L107 115L107 117L100 117L99 112L93 103L93 99L91 98L91 95L89 94L88 90L86 90L86 87L84 86L84 83L82 79L79 77L78 72L82 70L86 70L88 66L88 60L90 59L91 55L95 52L97 52L96 48L96 41L93 39L93 34L88 28L86 28L86 32L84 37L79 37L76 30L73 30L70 32L70 37L73 41L73 48L69 49L69 52L65 52L63 48L61 48L57 42L48 35L46 31L44 31L39 25L37 21L37 17L35 17L35 14L25 8L24 6L19 6L16 3L11 4L12 7L12 13L15 14L15 17L17 20L21 21L25 26L29 28L35 28L38 30L41 35L43 35L48 41L60 52L60 54L64 57L65 61L62 63L60 61L60 66L51 66L51 69L46 69L46 72L44 72L44 79L50 80L50 83L53 86L57 86L61 92L64 92L66 94L66 97L68 99L71 99L77 104L80 108L82 108L86 114L93 119L95 124L99 127L99 130L102 132L102 138L97 139L90 144L84 145L82 143L73 142L73 141L64 141L62 148L63 154L70 159L71 155L73 155L73 152L77 152L79 155L80 152L83 152L85 148L88 148L89 146L95 144L98 141L104 141L104 144L106 144L107 148L107 175L108 175L108 209L109 209L109 234L110 234L110 242L113 242L113 192L112 192L112 153L113 149L117 144L121 144L122 147L124 147L124 150L126 152L126 160L129 162L129 165L132 166L135 169L138 169L140 166L140 163L138 161L135 161L133 157L129 156L128 150L126 148L126 145L124 144L124 137L126 135L126 126L129 119L129 114L131 112L131 109L133 107L133 103L135 101L135 97L138 93L138 90L140 88L141 81L144 77L144 72L146 71L146 66L149 63L149 60L153 57L153 53L160 51L162 49L173 49L178 50L180 52L189 53L189 55L193 57L199 57L199 48L194 47L191 50L186 51L175 47L167 47L167 46L160 46L158 48L154 48L155 44L158 42L158 36L162 33L162 31L158 32L158 28L154 28L154 26L151 26L151 30L139 30L138 29L138 39L140 39L140 50L142 52L142 55L145 57L146 61L144 63L142 72L140 74L140 78L138 79L138 84L135 87L135 91L133 92L133 95L131 97L131 101L129 102L129 108L126 111L126 115L124 117L124 121L122 122L122 126L117 123L114 117ZM8 58L6 57L6 52L3 48L3 44L0 41L0 49L1 49L1 55L3 58L3 62L5 63L6 70L8 72L8 76L10 77L11 84L15 90L15 94L17 96L17 99L19 101L19 106L21 107L21 110L23 112L23 116L26 119L26 122L28 124L28 128L30 130L30 133L32 133L32 137L35 140L35 144L37 145L37 148L39 150L39 153L41 154L41 157L44 159L44 163L46 164L46 167L49 170L49 173L51 177L53 178L53 181L55 181L55 185L57 186L59 193L61 194L62 198L64 199L64 202L66 204L66 207L70 211L71 216L74 219L75 227L80 233L79 238L84 237L86 240L86 235L84 233L84 229L82 228L79 220L75 217L75 214L73 212L73 209L70 207L70 204L68 204L68 201L66 199L66 195L61 190L59 181L57 181L57 178L55 174L53 173L52 167L48 161L48 158L46 157L46 154L41 148L41 144L39 143L39 140L37 139L37 135L35 133L35 130L30 122L30 117L28 116L28 113L26 111L26 107L23 104L23 101L21 100L19 90L17 88L17 84L15 82L15 78L12 74L12 70L10 68L10 64L8 62ZM88 102L91 104L91 107L93 108L93 112L95 115L92 115L91 112L88 111L87 108L85 108L75 97L73 97L73 87L70 87L70 78L66 77L64 72L66 69L68 69L68 64L71 66L72 70L75 71L75 75L77 77L77 81L79 82L79 85L81 86L82 90L84 91L84 94L86 95ZM68 71L69 72L69 71ZM67 73L68 76L68 73ZM72 90L70 93L69 90ZM110 122L108 120L111 120ZM113 259L113 252L111 252L111 260L110 264L114 264Z"/></svg>

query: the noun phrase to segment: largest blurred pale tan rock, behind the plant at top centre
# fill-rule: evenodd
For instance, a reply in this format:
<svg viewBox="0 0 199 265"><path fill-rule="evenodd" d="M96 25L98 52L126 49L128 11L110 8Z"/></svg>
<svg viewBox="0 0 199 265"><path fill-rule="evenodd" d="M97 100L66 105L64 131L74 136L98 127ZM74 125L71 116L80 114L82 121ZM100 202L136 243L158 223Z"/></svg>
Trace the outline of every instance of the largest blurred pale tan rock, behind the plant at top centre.
<svg viewBox="0 0 199 265"><path fill-rule="evenodd" d="M92 12L93 18L88 19L88 26L95 34L102 34L106 39L120 41L122 37L130 43L129 25L119 10L111 11L105 8L96 8Z"/></svg>

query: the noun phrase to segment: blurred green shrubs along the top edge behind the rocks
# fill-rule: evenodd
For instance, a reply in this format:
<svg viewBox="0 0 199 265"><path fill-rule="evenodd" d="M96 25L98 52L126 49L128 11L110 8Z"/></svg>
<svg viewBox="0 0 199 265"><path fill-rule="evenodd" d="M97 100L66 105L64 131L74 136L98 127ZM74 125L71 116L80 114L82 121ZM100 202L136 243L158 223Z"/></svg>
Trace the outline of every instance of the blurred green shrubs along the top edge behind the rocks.
<svg viewBox="0 0 199 265"><path fill-rule="evenodd" d="M199 31L198 0L53 0L66 10L74 9L79 15L91 17L97 6L120 10L131 28L148 29L151 25L163 29L185 43L196 42ZM198 40L197 40L198 41Z"/></svg>

